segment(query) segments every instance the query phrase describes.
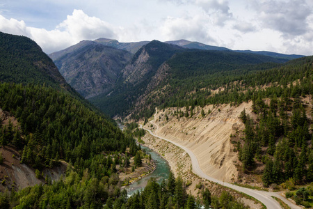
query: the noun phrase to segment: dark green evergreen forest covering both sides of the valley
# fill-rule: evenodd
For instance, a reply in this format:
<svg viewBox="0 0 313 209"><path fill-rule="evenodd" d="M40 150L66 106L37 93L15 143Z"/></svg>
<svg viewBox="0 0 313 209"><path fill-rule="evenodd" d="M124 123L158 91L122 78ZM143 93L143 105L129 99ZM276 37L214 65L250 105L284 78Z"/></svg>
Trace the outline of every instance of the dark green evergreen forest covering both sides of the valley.
<svg viewBox="0 0 313 209"><path fill-rule="evenodd" d="M256 54L186 50L154 40L134 55L132 64L144 49L150 59L142 81L129 84L120 77L111 98L90 100L99 109L147 121L156 107L185 107L176 116L192 118L195 107L252 101L256 119L243 111L243 137L233 141L241 169L249 173L257 163L264 164L265 187L312 183L313 56L286 62ZM166 76L156 82L154 75L164 64ZM155 82L153 88L146 88L150 82ZM142 192L127 196L116 167L128 167L130 157L141 166L141 146L134 138L141 140L145 131L129 123L122 132L97 107L65 82L35 42L0 33L0 109L17 120L4 123L0 116L0 145L17 150L20 163L45 178L45 185L19 191L11 185L13 189L0 193L0 208L246 208L227 192L211 196L204 188L198 197L186 194L184 181L172 173L167 181L151 179ZM67 164L61 180L41 174L61 163ZM305 200L305 191L298 197Z"/></svg>

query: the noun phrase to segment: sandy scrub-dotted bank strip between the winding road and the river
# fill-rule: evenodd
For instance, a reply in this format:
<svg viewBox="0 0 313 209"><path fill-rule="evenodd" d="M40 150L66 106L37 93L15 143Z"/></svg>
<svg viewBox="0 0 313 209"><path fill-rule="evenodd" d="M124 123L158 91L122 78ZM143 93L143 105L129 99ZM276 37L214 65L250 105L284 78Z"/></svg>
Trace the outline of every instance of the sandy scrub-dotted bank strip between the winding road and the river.
<svg viewBox="0 0 313 209"><path fill-rule="evenodd" d="M200 192L204 187L207 187L211 194L216 196L220 196L223 190L227 190L227 192L230 192L232 196L240 201L243 201L243 203L245 203L250 208L262 208L262 205L259 202L248 198L240 192L236 192L233 189L223 187L222 185L212 183L209 180L205 180L204 178L196 176L191 171L191 158L186 153L186 151L182 150L182 148L179 148L168 141L153 137L148 132L145 134L145 137L142 137L141 139L145 141L145 146L159 153L159 155L168 161L168 164L170 165L172 173L174 173L175 177L182 177L186 183L186 190L188 194L190 193L194 196L201 196Z"/></svg>

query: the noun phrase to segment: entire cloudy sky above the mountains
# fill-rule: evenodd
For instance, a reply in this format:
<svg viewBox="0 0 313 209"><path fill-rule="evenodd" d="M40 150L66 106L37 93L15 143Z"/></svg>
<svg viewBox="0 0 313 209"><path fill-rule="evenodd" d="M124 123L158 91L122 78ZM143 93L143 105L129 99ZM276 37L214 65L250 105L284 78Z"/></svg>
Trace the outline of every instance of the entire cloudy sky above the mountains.
<svg viewBox="0 0 313 209"><path fill-rule="evenodd" d="M81 40L193 40L313 54L312 0L0 0L0 31L46 53Z"/></svg>

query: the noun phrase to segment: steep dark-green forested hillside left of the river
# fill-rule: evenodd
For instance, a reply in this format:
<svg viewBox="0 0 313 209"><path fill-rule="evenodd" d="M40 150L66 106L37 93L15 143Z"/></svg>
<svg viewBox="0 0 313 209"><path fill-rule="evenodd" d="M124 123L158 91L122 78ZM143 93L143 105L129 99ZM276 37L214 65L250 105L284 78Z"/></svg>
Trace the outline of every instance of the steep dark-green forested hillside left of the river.
<svg viewBox="0 0 313 209"><path fill-rule="evenodd" d="M135 140L72 90L35 42L1 36L0 108L17 123L0 117L0 145L17 150L20 157L13 157L35 169L46 185L15 192L19 185L4 176L1 184L12 189L0 193L0 208L102 208L107 199L118 198L115 165L136 155ZM68 164L67 176L52 185L43 169L60 161ZM1 153L0 164L18 166Z"/></svg>

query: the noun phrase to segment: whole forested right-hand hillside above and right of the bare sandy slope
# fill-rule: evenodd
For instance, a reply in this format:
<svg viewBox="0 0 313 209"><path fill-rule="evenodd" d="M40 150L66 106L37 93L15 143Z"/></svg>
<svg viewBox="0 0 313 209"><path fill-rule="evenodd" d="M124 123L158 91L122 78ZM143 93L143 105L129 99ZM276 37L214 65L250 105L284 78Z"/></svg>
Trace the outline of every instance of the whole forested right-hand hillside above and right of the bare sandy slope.
<svg viewBox="0 0 313 209"><path fill-rule="evenodd" d="M168 80L147 96L134 118L149 118L154 107L184 107L174 116L193 120L195 108L252 100L253 114L241 114L243 134L231 136L242 171L257 170L266 187L312 182L312 56L283 64L236 65L237 59L230 65L227 58L214 63L179 55L167 62Z"/></svg>

